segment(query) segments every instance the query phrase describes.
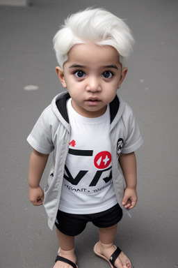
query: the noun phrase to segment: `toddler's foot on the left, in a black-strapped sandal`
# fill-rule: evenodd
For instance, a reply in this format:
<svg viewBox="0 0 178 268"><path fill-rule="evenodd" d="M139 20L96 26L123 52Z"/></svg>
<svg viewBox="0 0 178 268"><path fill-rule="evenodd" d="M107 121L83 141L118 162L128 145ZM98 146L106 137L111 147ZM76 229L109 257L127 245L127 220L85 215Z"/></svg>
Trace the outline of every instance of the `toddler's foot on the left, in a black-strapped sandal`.
<svg viewBox="0 0 178 268"><path fill-rule="evenodd" d="M74 253L74 249L72 249L71 251L63 251L61 248L59 248L58 255L76 264L76 255ZM54 265L54 268L73 268L73 267L68 265L66 262L57 260Z"/></svg>

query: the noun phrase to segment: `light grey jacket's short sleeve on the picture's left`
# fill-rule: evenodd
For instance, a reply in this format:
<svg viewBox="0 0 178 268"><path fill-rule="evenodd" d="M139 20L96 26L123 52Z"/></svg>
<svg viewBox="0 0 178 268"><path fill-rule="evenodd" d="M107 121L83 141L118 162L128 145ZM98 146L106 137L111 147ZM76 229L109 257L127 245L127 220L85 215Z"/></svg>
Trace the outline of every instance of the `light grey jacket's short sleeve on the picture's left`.
<svg viewBox="0 0 178 268"><path fill-rule="evenodd" d="M41 154L50 154L54 150L50 114L51 109L47 107L40 115L29 137L27 137L27 142L31 147Z"/></svg>

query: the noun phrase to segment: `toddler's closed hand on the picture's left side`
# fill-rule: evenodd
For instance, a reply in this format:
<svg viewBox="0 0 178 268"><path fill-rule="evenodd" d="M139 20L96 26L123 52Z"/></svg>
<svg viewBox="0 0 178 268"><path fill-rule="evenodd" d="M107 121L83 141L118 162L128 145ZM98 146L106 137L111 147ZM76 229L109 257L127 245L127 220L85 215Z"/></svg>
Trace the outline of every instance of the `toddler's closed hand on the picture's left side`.
<svg viewBox="0 0 178 268"><path fill-rule="evenodd" d="M29 200L34 206L41 206L44 200L44 192L40 186L32 188L29 186Z"/></svg>

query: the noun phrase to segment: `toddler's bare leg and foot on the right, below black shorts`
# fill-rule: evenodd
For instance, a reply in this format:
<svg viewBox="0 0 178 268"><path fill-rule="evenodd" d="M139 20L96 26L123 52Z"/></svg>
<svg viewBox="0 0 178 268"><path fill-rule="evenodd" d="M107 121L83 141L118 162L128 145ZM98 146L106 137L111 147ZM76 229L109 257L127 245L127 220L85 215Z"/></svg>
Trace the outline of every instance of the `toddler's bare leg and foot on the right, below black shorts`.
<svg viewBox="0 0 178 268"><path fill-rule="evenodd" d="M116 249L113 244L117 226L114 225L110 228L99 228L99 242L97 242L97 252L104 255L108 260ZM123 252L120 253L115 260L115 267L117 268L131 268L131 263Z"/></svg>

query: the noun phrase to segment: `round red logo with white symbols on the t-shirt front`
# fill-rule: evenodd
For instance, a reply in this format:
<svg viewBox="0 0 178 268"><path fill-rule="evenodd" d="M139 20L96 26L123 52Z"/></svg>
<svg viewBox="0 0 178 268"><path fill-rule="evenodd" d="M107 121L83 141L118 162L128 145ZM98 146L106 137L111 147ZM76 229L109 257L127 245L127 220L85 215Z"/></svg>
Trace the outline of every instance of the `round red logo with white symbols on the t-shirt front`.
<svg viewBox="0 0 178 268"><path fill-rule="evenodd" d="M111 154L109 151L100 151L99 154L95 156L94 164L96 168L100 170L108 168L111 163Z"/></svg>

